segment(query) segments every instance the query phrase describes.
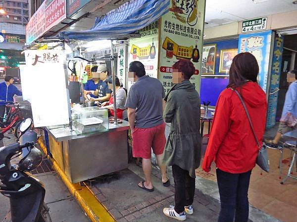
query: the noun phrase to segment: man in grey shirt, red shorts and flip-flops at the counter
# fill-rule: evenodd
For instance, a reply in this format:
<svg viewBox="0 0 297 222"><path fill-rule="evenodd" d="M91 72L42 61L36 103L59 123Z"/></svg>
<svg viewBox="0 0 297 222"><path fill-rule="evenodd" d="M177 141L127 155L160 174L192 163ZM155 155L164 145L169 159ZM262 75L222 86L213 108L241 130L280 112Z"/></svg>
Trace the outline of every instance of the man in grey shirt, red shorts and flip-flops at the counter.
<svg viewBox="0 0 297 222"><path fill-rule="evenodd" d="M130 88L126 102L133 139L133 157L143 158L142 165L146 178L146 181L140 182L138 186L152 192L154 188L150 177L151 148L161 170L163 185L170 185L166 166L162 164L166 144L165 123L162 117L165 92L158 79L146 75L145 67L141 62L130 63L129 77L136 80Z"/></svg>

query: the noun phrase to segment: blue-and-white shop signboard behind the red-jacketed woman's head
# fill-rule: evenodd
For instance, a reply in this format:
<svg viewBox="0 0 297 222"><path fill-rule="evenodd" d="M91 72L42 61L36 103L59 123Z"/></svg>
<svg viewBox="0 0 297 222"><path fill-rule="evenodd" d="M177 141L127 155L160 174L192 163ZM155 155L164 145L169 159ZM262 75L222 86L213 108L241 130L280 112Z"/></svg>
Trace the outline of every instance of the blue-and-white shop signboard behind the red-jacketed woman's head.
<svg viewBox="0 0 297 222"><path fill-rule="evenodd" d="M250 52L259 65L258 83L266 92L269 71L272 31L243 34L239 36L238 53Z"/></svg>

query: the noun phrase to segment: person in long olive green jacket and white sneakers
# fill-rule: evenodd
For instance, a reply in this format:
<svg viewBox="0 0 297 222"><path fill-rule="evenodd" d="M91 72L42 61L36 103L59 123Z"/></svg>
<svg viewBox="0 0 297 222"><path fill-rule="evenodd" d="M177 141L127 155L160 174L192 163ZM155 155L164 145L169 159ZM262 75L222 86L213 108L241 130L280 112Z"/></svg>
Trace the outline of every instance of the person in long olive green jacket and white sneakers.
<svg viewBox="0 0 297 222"><path fill-rule="evenodd" d="M180 221L186 213L193 214L195 169L201 156L200 98L190 82L195 67L190 60L179 60L173 65L173 83L167 96L163 117L171 123L170 135L163 161L172 166L175 183L175 206L164 208L163 213Z"/></svg>

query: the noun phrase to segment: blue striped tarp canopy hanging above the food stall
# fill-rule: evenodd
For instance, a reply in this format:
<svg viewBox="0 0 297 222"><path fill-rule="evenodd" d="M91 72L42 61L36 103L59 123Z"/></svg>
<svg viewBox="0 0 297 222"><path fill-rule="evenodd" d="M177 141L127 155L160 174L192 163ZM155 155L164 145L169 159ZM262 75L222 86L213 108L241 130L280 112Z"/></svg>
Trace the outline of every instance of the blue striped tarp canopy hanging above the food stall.
<svg viewBox="0 0 297 222"><path fill-rule="evenodd" d="M170 0L130 0L96 18L92 29L80 32L60 32L61 40L97 40L127 36L159 19L169 10Z"/></svg>

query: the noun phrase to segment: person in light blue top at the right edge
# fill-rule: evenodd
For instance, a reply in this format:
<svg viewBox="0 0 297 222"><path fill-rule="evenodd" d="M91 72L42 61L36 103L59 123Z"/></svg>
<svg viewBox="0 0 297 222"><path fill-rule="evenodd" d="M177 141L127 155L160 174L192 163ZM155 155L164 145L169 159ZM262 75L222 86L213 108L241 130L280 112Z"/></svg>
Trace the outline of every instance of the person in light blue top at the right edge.
<svg viewBox="0 0 297 222"><path fill-rule="evenodd" d="M287 81L291 84L286 93L280 125L273 140L264 140L267 144L278 144L282 135L297 129L297 70L288 73Z"/></svg>

